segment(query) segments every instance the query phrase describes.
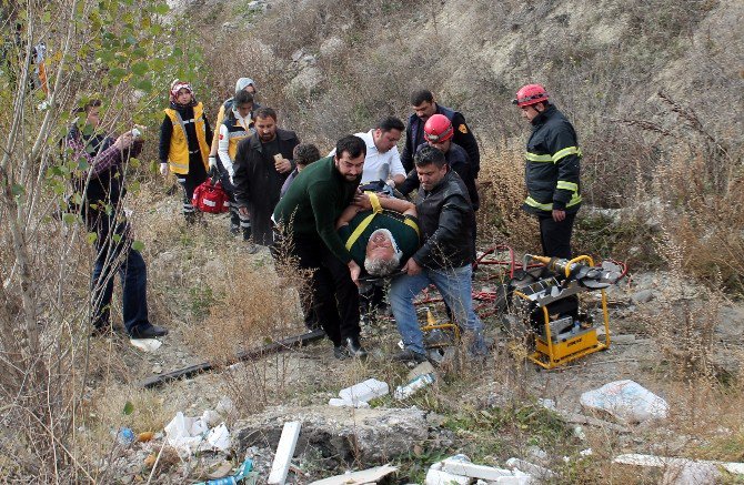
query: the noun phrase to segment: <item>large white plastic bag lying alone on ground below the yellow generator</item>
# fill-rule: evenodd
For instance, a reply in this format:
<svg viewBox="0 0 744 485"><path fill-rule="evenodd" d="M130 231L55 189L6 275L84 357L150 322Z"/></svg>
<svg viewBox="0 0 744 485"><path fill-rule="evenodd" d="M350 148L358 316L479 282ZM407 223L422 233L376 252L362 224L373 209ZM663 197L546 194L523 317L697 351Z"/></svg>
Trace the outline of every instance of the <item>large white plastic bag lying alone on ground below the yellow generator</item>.
<svg viewBox="0 0 744 485"><path fill-rule="evenodd" d="M581 395L581 405L603 411L623 424L663 420L670 406L663 398L634 381L615 381Z"/></svg>

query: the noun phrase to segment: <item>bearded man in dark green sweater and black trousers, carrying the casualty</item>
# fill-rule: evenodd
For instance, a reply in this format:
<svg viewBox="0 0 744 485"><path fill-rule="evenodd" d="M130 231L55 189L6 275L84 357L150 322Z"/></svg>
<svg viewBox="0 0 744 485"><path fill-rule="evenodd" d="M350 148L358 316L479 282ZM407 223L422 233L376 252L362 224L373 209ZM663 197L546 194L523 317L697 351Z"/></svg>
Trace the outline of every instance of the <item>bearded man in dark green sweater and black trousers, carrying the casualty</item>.
<svg viewBox="0 0 744 485"><path fill-rule="evenodd" d="M312 309L333 342L333 355L364 357L359 342L359 290L361 267L335 231L335 221L358 195L366 144L344 137L335 155L309 165L294 179L274 210L285 250L300 269L313 272Z"/></svg>

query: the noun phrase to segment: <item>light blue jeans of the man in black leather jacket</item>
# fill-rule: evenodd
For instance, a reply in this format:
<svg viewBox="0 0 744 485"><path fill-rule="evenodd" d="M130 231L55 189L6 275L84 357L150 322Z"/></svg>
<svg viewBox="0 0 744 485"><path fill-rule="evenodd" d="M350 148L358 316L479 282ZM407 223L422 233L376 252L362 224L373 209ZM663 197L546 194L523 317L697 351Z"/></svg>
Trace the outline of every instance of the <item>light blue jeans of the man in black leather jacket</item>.
<svg viewBox="0 0 744 485"><path fill-rule="evenodd" d="M416 319L413 299L430 284L434 284L442 294L444 302L452 309L455 322L460 327L476 336L476 345L483 346L483 323L473 311L472 266L469 264L453 270L423 269L415 276L402 274L393 279L390 286L390 305L398 323L398 331L403 339L405 348L424 354L423 333ZM472 348L482 352L483 348Z"/></svg>

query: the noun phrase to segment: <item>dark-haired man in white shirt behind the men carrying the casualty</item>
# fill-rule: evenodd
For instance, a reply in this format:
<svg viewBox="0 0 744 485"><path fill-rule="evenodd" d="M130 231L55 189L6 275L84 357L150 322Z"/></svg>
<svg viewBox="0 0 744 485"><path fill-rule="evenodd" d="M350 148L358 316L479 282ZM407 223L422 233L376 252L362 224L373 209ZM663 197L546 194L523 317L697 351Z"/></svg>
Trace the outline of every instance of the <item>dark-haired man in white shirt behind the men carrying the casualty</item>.
<svg viewBox="0 0 744 485"><path fill-rule="evenodd" d="M398 152L398 142L405 130L405 124L398 118L383 118L370 131L354 133L366 143L366 156L364 158L364 171L362 182L364 185L379 180L394 186L405 180L405 170L401 163ZM329 156L335 154L335 150Z"/></svg>

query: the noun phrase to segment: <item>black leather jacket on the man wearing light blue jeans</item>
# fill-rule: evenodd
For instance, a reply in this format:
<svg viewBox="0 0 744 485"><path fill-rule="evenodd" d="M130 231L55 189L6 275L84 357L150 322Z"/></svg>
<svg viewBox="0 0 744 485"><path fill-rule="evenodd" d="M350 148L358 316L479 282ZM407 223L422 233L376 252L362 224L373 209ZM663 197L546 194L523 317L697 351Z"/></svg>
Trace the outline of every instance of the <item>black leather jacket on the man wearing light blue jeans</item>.
<svg viewBox="0 0 744 485"><path fill-rule="evenodd" d="M419 190L416 212L423 245L413 260L430 270L462 267L471 252L473 205L460 175L450 170L430 192Z"/></svg>

